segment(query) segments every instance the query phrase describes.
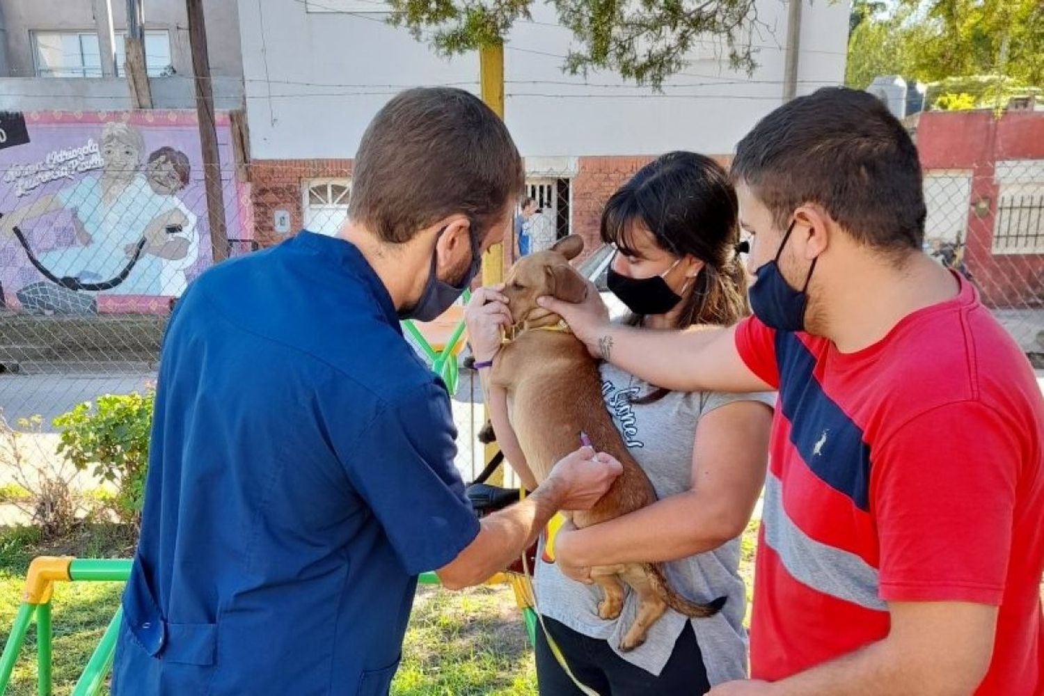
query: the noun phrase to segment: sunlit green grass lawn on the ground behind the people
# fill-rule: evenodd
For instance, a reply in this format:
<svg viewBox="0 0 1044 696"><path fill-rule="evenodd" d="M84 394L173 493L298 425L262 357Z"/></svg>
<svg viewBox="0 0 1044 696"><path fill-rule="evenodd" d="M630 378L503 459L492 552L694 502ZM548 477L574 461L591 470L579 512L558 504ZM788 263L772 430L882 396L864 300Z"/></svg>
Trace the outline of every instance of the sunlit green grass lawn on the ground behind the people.
<svg viewBox="0 0 1044 696"><path fill-rule="evenodd" d="M740 542L740 574L751 597L757 522ZM117 525L92 525L61 543L42 544L31 527L0 528L0 645L7 641L29 560L37 555L128 557L133 536ZM119 603L121 583L60 583L54 591L54 694L66 696ZM1041 586L1044 597L1044 585ZM748 607L750 617L750 606ZM9 696L35 694L34 629L22 649ZM536 696L525 628L506 585L450 593L421 587L392 686L396 696Z"/></svg>

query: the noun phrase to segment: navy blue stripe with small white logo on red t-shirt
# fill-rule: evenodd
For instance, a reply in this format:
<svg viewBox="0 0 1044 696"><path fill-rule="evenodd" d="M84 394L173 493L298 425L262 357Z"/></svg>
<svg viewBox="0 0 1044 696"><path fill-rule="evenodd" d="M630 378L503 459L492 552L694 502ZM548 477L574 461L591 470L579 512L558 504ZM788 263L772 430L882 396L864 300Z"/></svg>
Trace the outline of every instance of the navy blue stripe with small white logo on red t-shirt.
<svg viewBox="0 0 1044 696"><path fill-rule="evenodd" d="M823 391L813 374L815 356L798 336L776 332L776 361L790 441L816 477L869 510L870 446L862 430Z"/></svg>

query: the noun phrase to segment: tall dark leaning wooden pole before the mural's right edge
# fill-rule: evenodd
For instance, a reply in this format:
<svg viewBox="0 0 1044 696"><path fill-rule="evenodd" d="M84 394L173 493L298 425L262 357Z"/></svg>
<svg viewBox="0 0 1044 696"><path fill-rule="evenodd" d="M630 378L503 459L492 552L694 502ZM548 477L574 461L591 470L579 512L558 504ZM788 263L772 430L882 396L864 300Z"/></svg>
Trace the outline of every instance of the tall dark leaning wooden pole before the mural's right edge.
<svg viewBox="0 0 1044 696"><path fill-rule="evenodd" d="M229 234L224 226L224 195L221 190L221 159L217 151L214 125L214 94L207 55L207 25L203 0L186 0L189 18L189 45L192 49L192 74L195 78L196 114L199 121L199 145L203 148L204 182L207 188L207 219L210 221L211 255L214 263L229 258Z"/></svg>

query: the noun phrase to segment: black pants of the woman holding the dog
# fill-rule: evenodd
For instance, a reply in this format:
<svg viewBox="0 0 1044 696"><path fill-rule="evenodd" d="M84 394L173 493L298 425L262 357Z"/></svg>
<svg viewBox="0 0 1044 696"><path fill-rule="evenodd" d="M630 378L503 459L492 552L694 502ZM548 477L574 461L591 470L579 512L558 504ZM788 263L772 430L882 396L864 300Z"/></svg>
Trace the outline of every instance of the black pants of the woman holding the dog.
<svg viewBox="0 0 1044 696"><path fill-rule="evenodd" d="M705 694L711 689L692 624L686 623L663 671L655 676L621 658L607 641L588 638L547 617L544 622L572 673L600 696ZM584 696L554 658L539 624L536 652L541 696Z"/></svg>

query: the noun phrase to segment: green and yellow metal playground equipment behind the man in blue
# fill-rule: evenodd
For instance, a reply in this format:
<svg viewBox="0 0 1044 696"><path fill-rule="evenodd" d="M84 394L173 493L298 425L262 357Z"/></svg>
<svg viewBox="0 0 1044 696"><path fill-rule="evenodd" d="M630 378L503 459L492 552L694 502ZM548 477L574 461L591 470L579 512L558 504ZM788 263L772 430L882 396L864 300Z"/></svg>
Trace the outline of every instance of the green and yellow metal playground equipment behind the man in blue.
<svg viewBox="0 0 1044 696"><path fill-rule="evenodd" d="M468 293L464 301L467 303ZM459 371L457 367L457 345L464 335L464 321L456 323L448 339L432 345L412 321L404 321L403 328L418 347L431 362L432 370L442 377L449 392L455 393ZM73 558L70 556L40 556L29 563L26 573L25 592L15 617L15 623L3 653L0 655L0 696L7 690L11 672L18 661L25 637L33 620L37 623L37 693L50 696L53 692L51 679L52 629L51 598L56 582L125 582L130 575L130 560L127 558ZM421 584L438 584L438 576L432 572L423 573ZM509 583L515 591L515 599L522 610L526 632L533 643L537 615L532 609L532 591L528 579L517 573L498 573L488 580L488 584ZM117 607L109 627L105 628L82 674L73 688L72 696L94 696L105 681L113 666L116 637L119 633L122 610Z"/></svg>

